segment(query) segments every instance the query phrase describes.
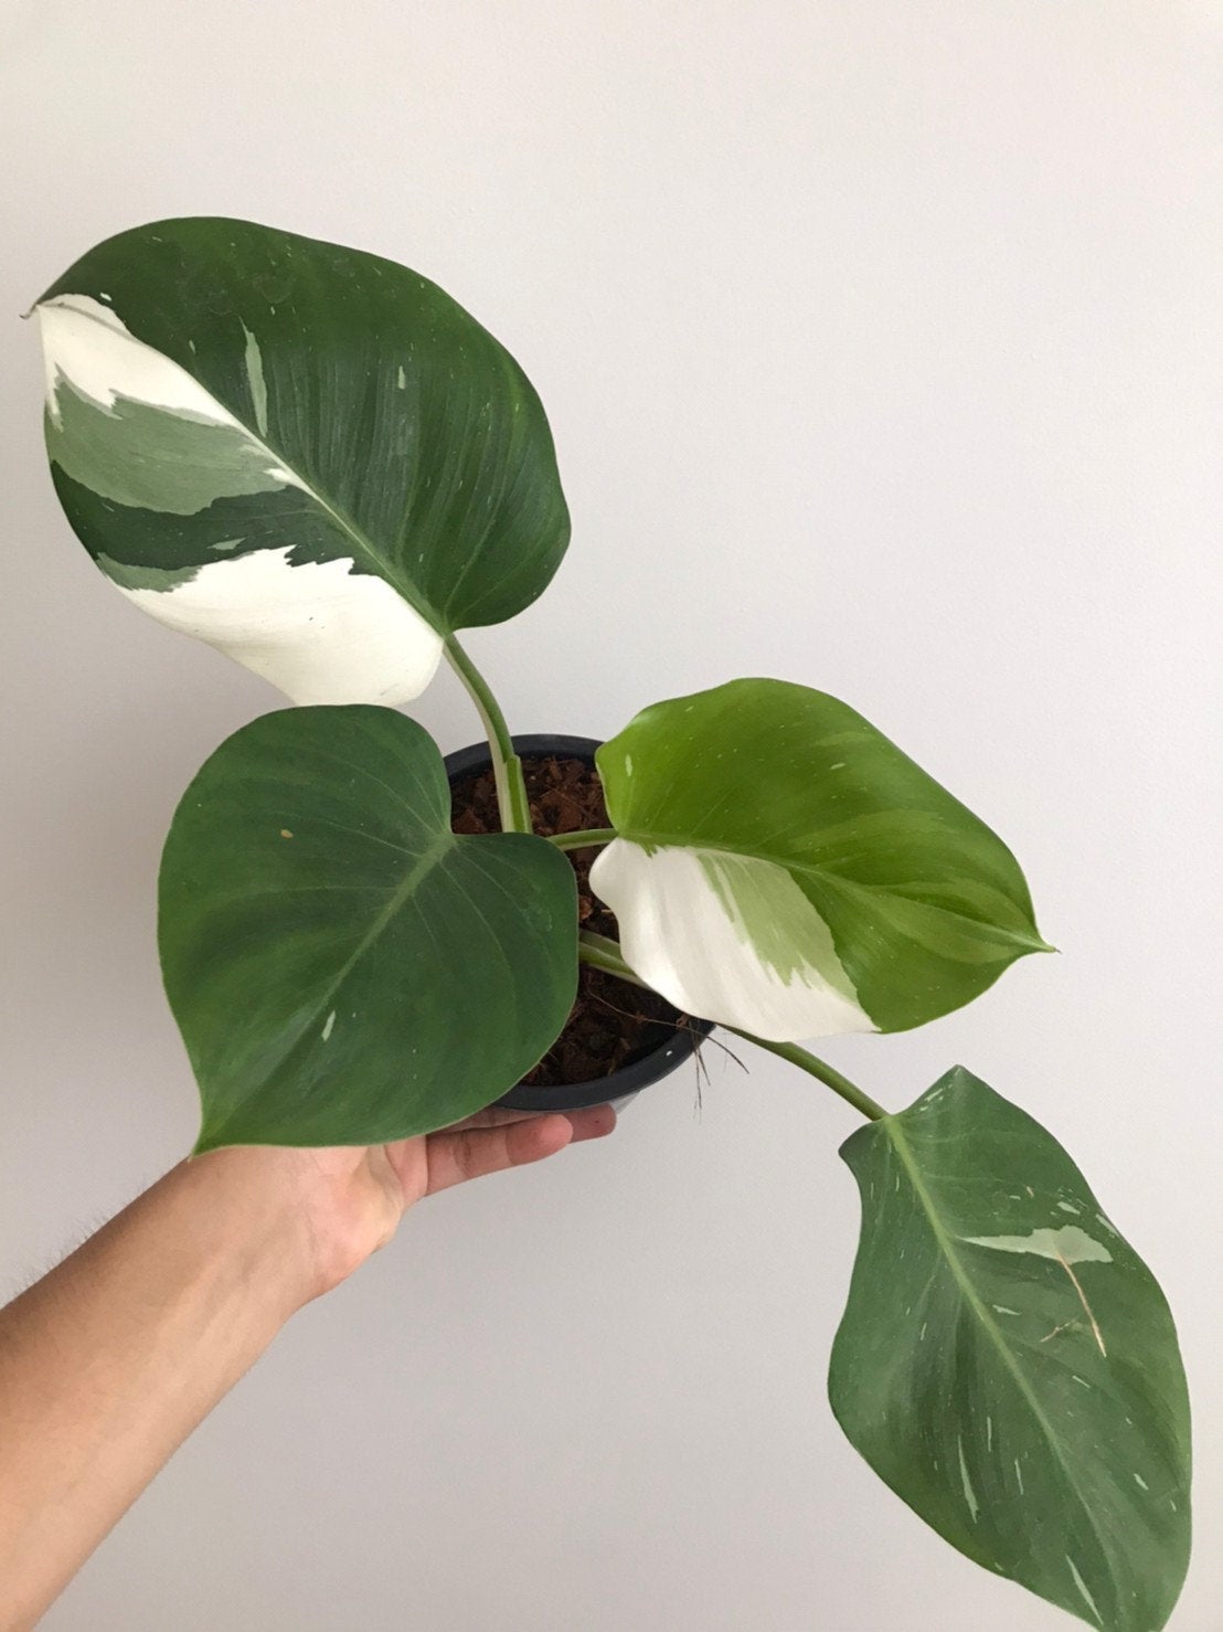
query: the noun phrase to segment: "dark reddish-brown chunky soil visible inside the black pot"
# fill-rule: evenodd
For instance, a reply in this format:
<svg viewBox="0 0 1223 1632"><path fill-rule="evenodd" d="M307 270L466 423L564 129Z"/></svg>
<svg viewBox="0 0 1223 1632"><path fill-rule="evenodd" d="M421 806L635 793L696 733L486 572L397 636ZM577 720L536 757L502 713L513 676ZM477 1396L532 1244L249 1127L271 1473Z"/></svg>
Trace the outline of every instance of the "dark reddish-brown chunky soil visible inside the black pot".
<svg viewBox="0 0 1223 1632"><path fill-rule="evenodd" d="M592 765L581 759L546 756L525 759L522 769L536 832L551 836L608 826L603 788ZM455 832L501 829L491 770L461 777L455 783L452 826ZM615 916L590 894L590 863L598 850L569 850L567 855L577 873L577 917L582 929L615 938ZM577 1002L564 1031L522 1080L533 1089L597 1082L665 1043L673 1027L675 1010L657 992L644 992L613 974L582 965L577 974Z"/></svg>

